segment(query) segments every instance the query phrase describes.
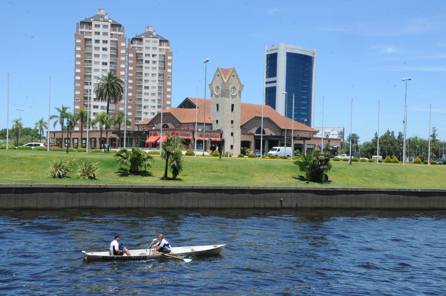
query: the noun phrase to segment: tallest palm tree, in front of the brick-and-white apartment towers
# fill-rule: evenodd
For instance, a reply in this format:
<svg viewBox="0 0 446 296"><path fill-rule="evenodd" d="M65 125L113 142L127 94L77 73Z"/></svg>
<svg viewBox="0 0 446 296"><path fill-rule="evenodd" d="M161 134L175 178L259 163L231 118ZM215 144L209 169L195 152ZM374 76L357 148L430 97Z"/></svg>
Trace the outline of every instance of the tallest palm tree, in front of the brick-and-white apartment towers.
<svg viewBox="0 0 446 296"><path fill-rule="evenodd" d="M101 102L107 102L107 114L110 103L116 104L124 95L124 88L122 85L124 81L117 77L114 72L108 72L107 75L102 75L98 78L98 86L95 88L96 98Z"/></svg>

